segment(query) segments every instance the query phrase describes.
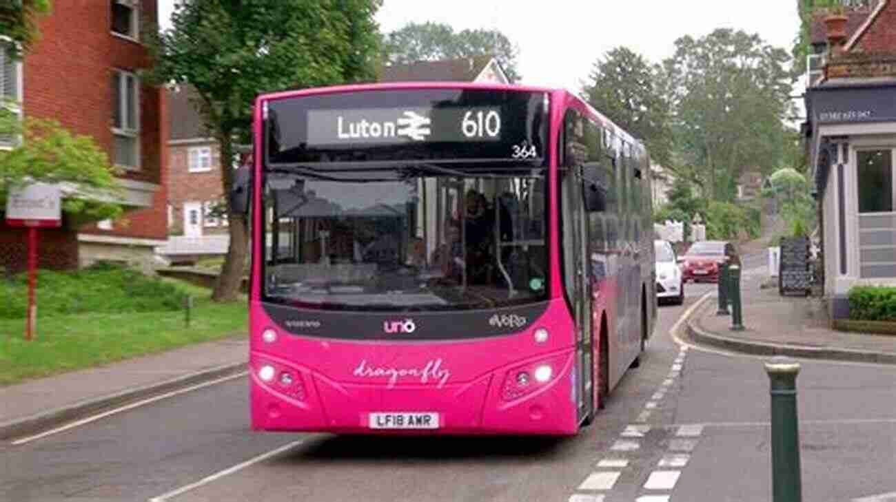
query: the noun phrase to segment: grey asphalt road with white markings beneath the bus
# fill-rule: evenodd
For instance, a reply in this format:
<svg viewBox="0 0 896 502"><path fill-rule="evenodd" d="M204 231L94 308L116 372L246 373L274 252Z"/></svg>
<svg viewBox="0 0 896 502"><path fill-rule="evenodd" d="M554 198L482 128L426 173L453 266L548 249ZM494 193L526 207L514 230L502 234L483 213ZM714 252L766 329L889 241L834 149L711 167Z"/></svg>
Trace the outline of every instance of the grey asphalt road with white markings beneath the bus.
<svg viewBox="0 0 896 502"><path fill-rule="evenodd" d="M254 433L238 379L0 447L0 500L767 501L762 361L668 335L714 287L660 308L641 367L575 438ZM797 385L804 499L896 491L896 369L804 362Z"/></svg>

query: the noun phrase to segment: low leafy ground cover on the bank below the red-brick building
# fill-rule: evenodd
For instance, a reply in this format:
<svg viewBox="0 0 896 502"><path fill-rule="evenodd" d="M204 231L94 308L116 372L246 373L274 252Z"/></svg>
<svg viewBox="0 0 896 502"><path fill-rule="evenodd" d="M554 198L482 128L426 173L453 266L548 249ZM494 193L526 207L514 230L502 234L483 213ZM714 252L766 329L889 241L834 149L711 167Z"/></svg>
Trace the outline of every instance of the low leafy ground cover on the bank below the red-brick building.
<svg viewBox="0 0 896 502"><path fill-rule="evenodd" d="M28 275L0 282L0 319L23 319L28 305ZM113 265L72 272L39 270L41 316L88 312L148 312L183 309L185 294L157 277Z"/></svg>

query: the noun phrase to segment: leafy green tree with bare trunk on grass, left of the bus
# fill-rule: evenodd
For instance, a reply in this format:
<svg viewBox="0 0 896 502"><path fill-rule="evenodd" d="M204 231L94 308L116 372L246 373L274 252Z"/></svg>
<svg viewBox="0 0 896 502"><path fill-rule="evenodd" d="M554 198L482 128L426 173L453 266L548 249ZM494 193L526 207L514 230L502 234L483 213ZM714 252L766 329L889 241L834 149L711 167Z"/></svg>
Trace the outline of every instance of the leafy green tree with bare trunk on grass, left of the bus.
<svg viewBox="0 0 896 502"><path fill-rule="evenodd" d="M233 184L234 141L251 138L254 98L372 79L380 0L187 0L151 41L156 81L189 83L220 144L221 185ZM212 299L236 300L246 260L246 217L229 207L228 254Z"/></svg>

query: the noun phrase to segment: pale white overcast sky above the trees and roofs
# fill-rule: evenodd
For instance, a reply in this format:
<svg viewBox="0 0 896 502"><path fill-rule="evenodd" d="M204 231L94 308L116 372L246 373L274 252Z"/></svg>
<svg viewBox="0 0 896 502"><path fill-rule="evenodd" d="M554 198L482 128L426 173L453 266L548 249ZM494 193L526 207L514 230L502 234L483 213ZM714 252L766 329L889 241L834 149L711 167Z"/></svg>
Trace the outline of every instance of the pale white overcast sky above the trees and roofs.
<svg viewBox="0 0 896 502"><path fill-rule="evenodd" d="M159 0L163 28L174 2ZM799 27L794 0L383 0L376 21L383 32L424 21L455 31L499 30L519 47L521 83L573 91L613 47L659 63L672 55L676 38L732 28L789 53Z"/></svg>

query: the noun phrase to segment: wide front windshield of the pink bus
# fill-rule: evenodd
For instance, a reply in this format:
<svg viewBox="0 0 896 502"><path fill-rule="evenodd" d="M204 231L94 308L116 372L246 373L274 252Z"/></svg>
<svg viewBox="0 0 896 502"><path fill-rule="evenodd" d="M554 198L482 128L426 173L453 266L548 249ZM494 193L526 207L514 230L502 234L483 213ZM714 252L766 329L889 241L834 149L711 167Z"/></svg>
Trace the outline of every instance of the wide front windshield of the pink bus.
<svg viewBox="0 0 896 502"><path fill-rule="evenodd" d="M265 300L360 311L545 300L543 171L271 171L262 200Z"/></svg>

